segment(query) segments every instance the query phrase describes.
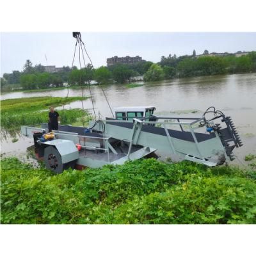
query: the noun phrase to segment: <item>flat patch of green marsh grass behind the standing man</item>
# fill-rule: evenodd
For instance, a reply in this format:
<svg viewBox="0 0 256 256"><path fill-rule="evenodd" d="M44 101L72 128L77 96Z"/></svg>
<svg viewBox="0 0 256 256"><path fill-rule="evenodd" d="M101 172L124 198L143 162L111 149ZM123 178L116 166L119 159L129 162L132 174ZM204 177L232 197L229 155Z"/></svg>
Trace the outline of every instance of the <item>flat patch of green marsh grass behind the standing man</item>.
<svg viewBox="0 0 256 256"><path fill-rule="evenodd" d="M87 99L86 97L32 97L1 100L1 127L6 130L20 129L20 125L36 125L48 122L49 107L61 106L69 102ZM45 111L44 111L45 110ZM58 110L62 124L77 122L84 116L82 109Z"/></svg>

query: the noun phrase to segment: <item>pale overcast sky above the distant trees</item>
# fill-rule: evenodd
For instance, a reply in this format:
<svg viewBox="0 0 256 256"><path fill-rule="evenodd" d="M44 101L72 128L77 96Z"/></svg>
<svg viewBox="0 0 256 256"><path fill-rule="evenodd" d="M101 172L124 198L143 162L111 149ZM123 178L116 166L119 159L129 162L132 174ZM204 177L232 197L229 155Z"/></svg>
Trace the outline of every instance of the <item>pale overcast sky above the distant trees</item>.
<svg viewBox="0 0 256 256"><path fill-rule="evenodd" d="M94 67L112 56L136 56L157 62L161 56L256 51L256 33L88 33L81 32ZM1 33L1 76L33 65L72 65L76 39L70 33ZM46 58L45 58L46 56ZM74 65L79 67L78 54ZM86 62L89 61L86 59Z"/></svg>

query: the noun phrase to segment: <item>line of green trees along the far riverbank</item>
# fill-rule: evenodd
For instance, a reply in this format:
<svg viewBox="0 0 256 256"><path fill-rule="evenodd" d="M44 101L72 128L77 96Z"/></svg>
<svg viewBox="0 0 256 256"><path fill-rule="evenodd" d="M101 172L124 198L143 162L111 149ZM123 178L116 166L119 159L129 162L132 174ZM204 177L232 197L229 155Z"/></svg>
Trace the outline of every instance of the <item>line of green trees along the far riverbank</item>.
<svg viewBox="0 0 256 256"><path fill-rule="evenodd" d="M98 84L130 82L132 77L143 76L144 81L159 81L175 77L211 76L217 74L236 74L256 72L256 52L236 57L234 54L212 56L205 50L202 56L191 55L177 57L162 56L158 63L141 61L132 64L116 64L110 67L93 68L88 64L78 69L74 66L63 67L61 72L45 72L41 64L33 67L27 60L23 71L14 70L12 74L1 77L1 91L9 84L20 84L24 90L49 87L61 87L64 83L70 86L90 84L92 80Z"/></svg>

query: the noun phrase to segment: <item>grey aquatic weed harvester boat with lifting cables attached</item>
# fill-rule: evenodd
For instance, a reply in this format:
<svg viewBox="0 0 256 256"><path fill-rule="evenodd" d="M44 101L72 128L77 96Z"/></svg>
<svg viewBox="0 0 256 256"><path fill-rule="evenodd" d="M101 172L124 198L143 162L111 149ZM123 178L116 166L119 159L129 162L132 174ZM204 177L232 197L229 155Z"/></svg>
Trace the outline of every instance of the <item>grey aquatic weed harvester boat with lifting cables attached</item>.
<svg viewBox="0 0 256 256"><path fill-rule="evenodd" d="M84 45L80 33L73 35ZM22 126L21 133L34 139L36 157L54 173L69 167L123 164L156 151L177 161L216 166L234 160L232 151L243 145L230 116L214 107L198 118L156 116L155 110L154 106L120 107L111 109L112 118L96 120L95 116L88 127L60 125L49 134L47 124L42 124L41 128Z"/></svg>

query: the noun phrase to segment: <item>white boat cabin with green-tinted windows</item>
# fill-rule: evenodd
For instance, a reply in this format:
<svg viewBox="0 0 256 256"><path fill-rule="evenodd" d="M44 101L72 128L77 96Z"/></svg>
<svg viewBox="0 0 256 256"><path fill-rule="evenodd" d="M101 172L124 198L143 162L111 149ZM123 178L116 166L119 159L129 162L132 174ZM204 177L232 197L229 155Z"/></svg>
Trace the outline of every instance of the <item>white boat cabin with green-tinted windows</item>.
<svg viewBox="0 0 256 256"><path fill-rule="evenodd" d="M132 121L133 118L150 118L154 110L156 110L156 108L153 106L114 108L115 118L123 121Z"/></svg>

